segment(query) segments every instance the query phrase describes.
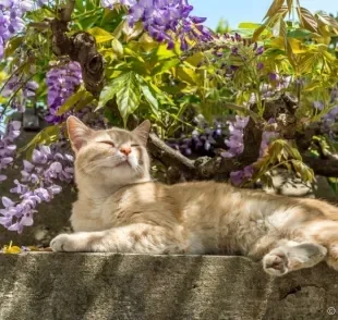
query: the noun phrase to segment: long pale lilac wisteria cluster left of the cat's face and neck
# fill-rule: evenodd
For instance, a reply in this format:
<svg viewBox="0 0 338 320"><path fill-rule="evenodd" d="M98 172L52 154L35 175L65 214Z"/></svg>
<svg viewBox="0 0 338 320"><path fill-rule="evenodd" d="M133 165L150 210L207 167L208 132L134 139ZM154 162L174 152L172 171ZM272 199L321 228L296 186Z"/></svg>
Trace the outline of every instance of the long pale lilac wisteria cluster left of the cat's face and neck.
<svg viewBox="0 0 338 320"><path fill-rule="evenodd" d="M61 153L62 143L50 147L40 146L33 151L32 162L23 160L21 182L14 181L15 187L10 192L19 195L13 201L2 197L3 209L0 209L0 224L10 231L21 233L24 226L33 224L35 208L43 201L50 201L62 190L56 181L73 180L73 157Z"/></svg>

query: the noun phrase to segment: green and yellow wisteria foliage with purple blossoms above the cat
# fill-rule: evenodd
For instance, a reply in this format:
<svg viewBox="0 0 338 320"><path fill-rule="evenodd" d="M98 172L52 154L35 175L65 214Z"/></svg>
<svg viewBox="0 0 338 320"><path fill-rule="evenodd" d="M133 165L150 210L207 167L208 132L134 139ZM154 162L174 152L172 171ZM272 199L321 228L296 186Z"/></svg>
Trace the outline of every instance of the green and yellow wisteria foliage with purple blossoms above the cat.
<svg viewBox="0 0 338 320"><path fill-rule="evenodd" d="M28 175L15 182L19 200L2 199L0 223L10 230L31 225L36 205L60 192L58 180L72 179L71 156L59 149L69 114L96 126L128 127L132 120L150 119L160 137L186 156L225 158L245 152L244 132L252 119L263 135L261 155L230 174L238 185L268 183L269 171L279 165L313 180L294 139L314 123L323 123L323 137L334 146L338 63L330 44L338 22L311 13L298 0L274 0L263 24L241 23L232 35L212 33L202 24L205 19L191 15L186 1L156 1L149 11L143 0L75 1L68 35L86 32L95 38L105 60L106 85L98 97L85 89L81 65L52 51L49 22L60 19L70 2L28 1L23 12L20 1L0 4L5 16L16 10L22 21L11 34L0 30L0 44L5 44L1 120L9 121L13 110L43 108L51 125L21 149L35 163L25 160ZM298 22L289 19L294 13ZM218 32L225 28L220 23ZM271 112L271 103L285 94L297 98L294 110ZM1 153L8 134L0 135L4 168L12 160ZM217 148L222 150L217 153Z"/></svg>

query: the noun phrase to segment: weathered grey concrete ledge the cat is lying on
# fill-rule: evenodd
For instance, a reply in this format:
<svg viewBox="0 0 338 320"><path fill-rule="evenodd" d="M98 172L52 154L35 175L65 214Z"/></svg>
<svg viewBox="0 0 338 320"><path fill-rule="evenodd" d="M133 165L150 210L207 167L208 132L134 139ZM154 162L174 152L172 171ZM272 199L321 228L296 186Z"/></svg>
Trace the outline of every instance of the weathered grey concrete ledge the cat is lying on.
<svg viewBox="0 0 338 320"><path fill-rule="evenodd" d="M0 255L1 320L337 317L338 272L324 264L273 279L242 257Z"/></svg>

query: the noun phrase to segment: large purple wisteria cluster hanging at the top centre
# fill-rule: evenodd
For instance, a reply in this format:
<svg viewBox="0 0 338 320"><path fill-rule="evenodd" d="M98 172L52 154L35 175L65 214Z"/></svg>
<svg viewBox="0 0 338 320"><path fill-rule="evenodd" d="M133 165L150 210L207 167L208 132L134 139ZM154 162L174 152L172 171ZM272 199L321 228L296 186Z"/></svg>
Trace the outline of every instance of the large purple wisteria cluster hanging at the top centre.
<svg viewBox="0 0 338 320"><path fill-rule="evenodd" d="M189 48L186 36L200 41L213 38L210 30L202 25L206 19L191 15L193 7L188 0L102 0L101 4L111 8L117 2L130 7L130 25L142 21L149 35L159 42L166 41L169 49L174 46L174 36L180 39L181 50Z"/></svg>

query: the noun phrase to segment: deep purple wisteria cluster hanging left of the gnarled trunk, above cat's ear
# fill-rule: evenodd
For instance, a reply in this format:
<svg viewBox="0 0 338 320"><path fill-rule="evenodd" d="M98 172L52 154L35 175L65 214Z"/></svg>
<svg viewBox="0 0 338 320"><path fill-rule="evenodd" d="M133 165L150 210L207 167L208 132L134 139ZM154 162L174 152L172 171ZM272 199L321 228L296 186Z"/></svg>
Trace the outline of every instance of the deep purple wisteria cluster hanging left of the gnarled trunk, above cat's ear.
<svg viewBox="0 0 338 320"><path fill-rule="evenodd" d="M58 115L57 111L81 85L81 65L71 61L67 65L56 66L47 73L46 81L48 86L47 103L49 107L46 121L53 124L61 123L69 116L70 112Z"/></svg>

